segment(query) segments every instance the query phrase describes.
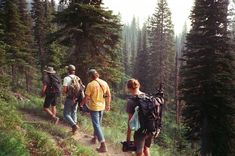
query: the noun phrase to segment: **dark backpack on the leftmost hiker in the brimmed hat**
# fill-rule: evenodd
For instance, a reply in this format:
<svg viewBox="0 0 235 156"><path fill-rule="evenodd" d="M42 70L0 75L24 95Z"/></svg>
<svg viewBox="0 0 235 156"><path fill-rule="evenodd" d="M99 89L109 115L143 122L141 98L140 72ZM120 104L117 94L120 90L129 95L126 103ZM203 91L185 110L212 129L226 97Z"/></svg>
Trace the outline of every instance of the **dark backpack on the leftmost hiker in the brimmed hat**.
<svg viewBox="0 0 235 156"><path fill-rule="evenodd" d="M47 94L55 95L61 93L61 79L56 74L48 74L50 84L47 87Z"/></svg>

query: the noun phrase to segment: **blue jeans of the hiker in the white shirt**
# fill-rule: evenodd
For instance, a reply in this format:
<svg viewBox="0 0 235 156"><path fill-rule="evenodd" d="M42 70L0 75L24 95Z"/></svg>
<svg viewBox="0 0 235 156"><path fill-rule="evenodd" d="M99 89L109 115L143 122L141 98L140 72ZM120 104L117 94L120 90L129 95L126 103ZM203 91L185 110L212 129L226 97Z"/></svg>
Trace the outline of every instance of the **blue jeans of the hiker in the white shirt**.
<svg viewBox="0 0 235 156"><path fill-rule="evenodd" d="M64 118L71 126L77 123L77 107L78 105L75 105L72 99L68 97L65 99Z"/></svg>

